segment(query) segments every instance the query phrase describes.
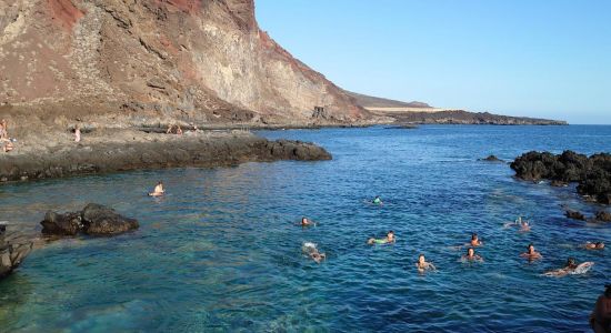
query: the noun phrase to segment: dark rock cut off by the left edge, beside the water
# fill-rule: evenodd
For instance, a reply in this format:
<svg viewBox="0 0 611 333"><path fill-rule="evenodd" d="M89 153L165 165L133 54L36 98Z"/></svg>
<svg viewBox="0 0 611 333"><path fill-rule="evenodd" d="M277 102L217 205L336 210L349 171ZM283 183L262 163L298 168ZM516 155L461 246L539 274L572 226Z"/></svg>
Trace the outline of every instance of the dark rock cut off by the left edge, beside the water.
<svg viewBox="0 0 611 333"><path fill-rule="evenodd" d="M0 279L7 276L21 264L32 251L33 242L24 235L9 232L0 224Z"/></svg>

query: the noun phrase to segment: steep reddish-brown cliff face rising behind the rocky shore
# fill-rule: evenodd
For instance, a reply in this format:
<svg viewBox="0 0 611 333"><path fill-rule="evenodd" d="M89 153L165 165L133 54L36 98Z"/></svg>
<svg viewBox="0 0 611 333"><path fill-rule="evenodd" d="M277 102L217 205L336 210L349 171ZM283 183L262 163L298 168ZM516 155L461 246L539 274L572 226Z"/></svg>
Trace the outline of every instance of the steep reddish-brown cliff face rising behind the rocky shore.
<svg viewBox="0 0 611 333"><path fill-rule="evenodd" d="M369 117L259 29L253 0L0 0L0 103L22 113L132 122ZM317 105L324 112L312 119Z"/></svg>

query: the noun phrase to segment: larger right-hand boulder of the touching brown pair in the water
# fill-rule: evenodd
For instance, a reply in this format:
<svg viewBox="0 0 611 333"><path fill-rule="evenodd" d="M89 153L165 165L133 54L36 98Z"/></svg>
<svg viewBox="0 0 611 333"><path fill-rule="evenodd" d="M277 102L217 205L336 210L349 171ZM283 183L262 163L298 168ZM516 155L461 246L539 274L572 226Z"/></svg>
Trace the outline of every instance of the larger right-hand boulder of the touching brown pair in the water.
<svg viewBox="0 0 611 333"><path fill-rule="evenodd" d="M90 235L113 235L138 229L138 221L123 218L113 209L97 203L88 204L82 211L83 232Z"/></svg>

